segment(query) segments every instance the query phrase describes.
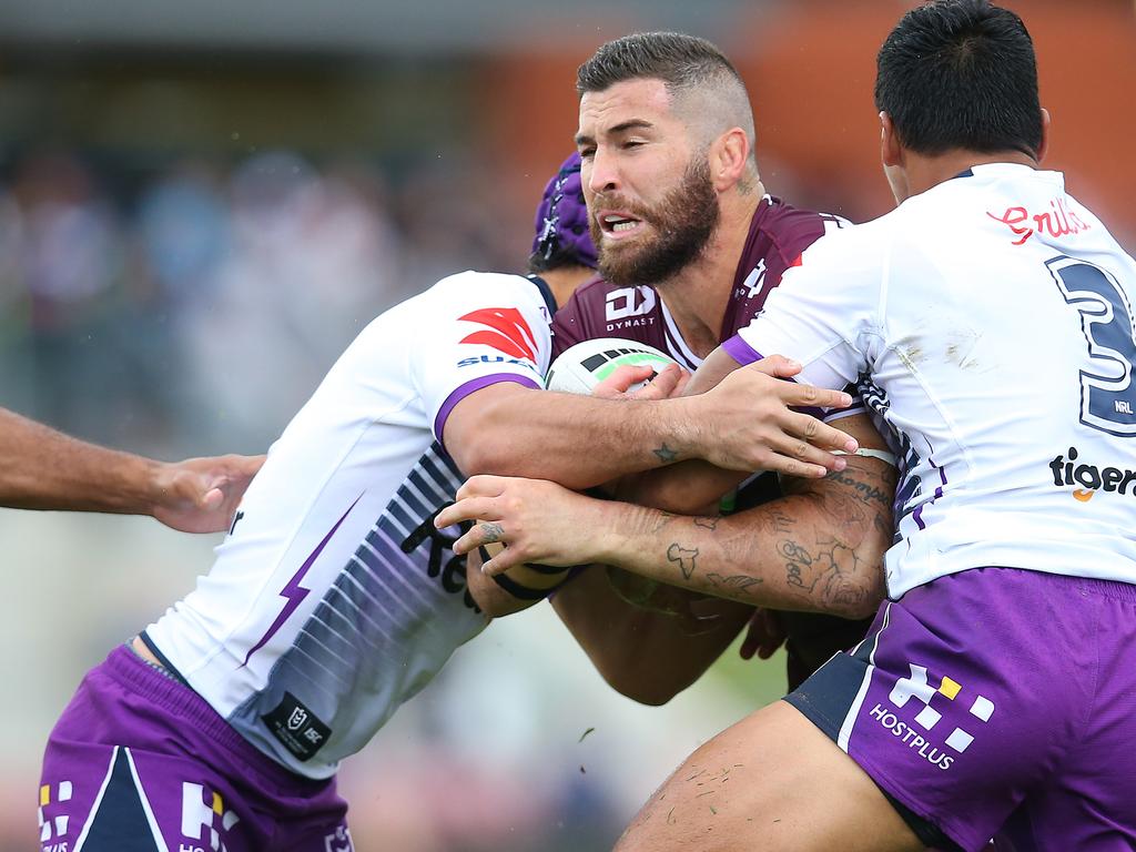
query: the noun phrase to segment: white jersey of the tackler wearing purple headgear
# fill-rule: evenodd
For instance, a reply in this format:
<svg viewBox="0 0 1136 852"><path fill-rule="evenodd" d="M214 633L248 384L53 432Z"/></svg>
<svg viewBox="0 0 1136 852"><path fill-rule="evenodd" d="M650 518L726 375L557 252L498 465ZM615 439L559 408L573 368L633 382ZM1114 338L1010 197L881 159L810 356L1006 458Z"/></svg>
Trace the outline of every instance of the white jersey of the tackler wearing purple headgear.
<svg viewBox="0 0 1136 852"><path fill-rule="evenodd" d="M541 387L542 282L462 273L375 319L268 452L212 569L145 638L249 742L331 776L487 624L457 527L445 418L495 382ZM282 377L286 378L286 377Z"/></svg>

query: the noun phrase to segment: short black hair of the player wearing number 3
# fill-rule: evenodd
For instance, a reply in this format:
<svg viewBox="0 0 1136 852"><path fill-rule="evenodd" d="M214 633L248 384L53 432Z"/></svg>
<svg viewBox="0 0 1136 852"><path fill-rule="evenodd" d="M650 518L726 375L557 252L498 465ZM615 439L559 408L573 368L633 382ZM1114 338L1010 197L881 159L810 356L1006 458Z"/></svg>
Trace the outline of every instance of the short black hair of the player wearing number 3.
<svg viewBox="0 0 1136 852"><path fill-rule="evenodd" d="M876 59L876 109L918 153L952 149L1037 157L1037 58L1021 18L987 0L912 9Z"/></svg>

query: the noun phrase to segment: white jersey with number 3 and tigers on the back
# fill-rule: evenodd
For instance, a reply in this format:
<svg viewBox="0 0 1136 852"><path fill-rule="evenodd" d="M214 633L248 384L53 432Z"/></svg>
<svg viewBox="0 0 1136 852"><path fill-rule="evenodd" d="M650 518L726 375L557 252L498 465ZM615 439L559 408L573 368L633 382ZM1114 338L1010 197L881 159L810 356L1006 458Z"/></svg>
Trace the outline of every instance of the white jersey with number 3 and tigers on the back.
<svg viewBox="0 0 1136 852"><path fill-rule="evenodd" d="M1136 264L997 164L816 242L727 342L859 382L903 459L891 596L983 566L1136 583Z"/></svg>

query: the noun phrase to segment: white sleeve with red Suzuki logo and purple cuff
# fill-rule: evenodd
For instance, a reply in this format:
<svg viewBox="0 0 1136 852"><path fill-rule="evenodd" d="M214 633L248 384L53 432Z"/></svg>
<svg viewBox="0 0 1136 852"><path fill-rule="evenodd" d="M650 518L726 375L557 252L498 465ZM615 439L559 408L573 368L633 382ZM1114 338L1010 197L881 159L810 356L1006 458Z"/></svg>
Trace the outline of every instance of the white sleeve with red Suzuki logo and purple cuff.
<svg viewBox="0 0 1136 852"><path fill-rule="evenodd" d="M441 441L462 399L499 382L543 387L552 339L549 309L519 275L462 273L435 285L411 371Z"/></svg>

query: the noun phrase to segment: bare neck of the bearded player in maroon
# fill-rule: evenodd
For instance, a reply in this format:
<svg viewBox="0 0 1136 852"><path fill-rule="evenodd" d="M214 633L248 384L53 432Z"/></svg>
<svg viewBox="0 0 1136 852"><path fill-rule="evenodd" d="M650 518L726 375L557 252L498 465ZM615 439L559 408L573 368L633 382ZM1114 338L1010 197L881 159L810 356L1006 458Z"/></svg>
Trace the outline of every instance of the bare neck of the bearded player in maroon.
<svg viewBox="0 0 1136 852"><path fill-rule="evenodd" d="M734 289L737 262L750 235L753 214L766 190L758 181L751 192L721 197L721 218L698 259L655 289L670 311L678 333L699 358L721 341L722 317Z"/></svg>

